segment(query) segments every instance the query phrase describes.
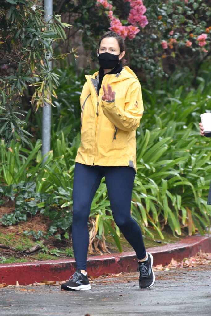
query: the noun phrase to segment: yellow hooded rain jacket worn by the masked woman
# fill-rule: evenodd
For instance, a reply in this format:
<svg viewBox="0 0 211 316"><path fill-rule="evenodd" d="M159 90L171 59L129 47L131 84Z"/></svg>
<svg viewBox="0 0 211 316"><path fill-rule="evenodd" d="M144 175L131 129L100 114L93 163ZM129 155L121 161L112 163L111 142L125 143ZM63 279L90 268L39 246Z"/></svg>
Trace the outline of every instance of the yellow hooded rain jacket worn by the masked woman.
<svg viewBox="0 0 211 316"><path fill-rule="evenodd" d="M93 166L129 166L136 171L136 132L144 107L141 86L129 67L102 80L115 91L115 100L97 96L98 71L86 75L81 104L81 144L75 161Z"/></svg>

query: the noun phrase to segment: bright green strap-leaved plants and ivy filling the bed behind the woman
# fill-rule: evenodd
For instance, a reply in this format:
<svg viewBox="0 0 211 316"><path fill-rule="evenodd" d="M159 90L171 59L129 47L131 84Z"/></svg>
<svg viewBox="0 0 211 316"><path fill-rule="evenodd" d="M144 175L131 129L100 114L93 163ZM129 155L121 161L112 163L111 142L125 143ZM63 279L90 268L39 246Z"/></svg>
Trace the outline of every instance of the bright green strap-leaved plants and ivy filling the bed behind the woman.
<svg viewBox="0 0 211 316"><path fill-rule="evenodd" d="M71 72L72 69L67 70ZM149 82L150 89L142 85L145 112L137 130L137 174L131 209L143 233L152 238L154 235L148 226L157 230L161 239L165 225L170 226L175 236L181 234L181 227L188 227L189 234L196 229L203 234L210 226L207 194L211 179L211 144L209 139L200 136L198 129L200 114L211 105L210 74L210 66L204 64L197 77L197 89L191 88L194 75L190 72L177 72L171 79L156 78ZM72 78L74 81L74 74ZM78 82L75 90L71 90L73 81L69 81L68 87L62 80L58 89L61 98L55 115L61 119L59 124L56 120L53 124L54 141L45 166L42 166L40 141L30 143L30 150L13 142L10 149L6 149L3 141L1 143L4 164L0 165L0 176L8 186L0 189L0 203L6 198L14 199L14 194L17 203L14 214L2 220L7 225L14 224L21 216L27 220L28 215L40 212L52 221L47 235L42 238L54 234L61 239L64 233L68 237L71 230L74 159L80 135L77 133L79 124L74 125L74 129L71 127L71 132L68 126L64 127L69 116L68 124L74 124L77 119L77 111L80 111L77 91L83 83ZM69 101L71 91L74 102ZM21 183L21 179L24 182ZM102 240L103 235L110 234L121 251L120 231L113 221L104 179L93 199L90 216L96 219L97 238ZM42 232L28 234L38 239Z"/></svg>

